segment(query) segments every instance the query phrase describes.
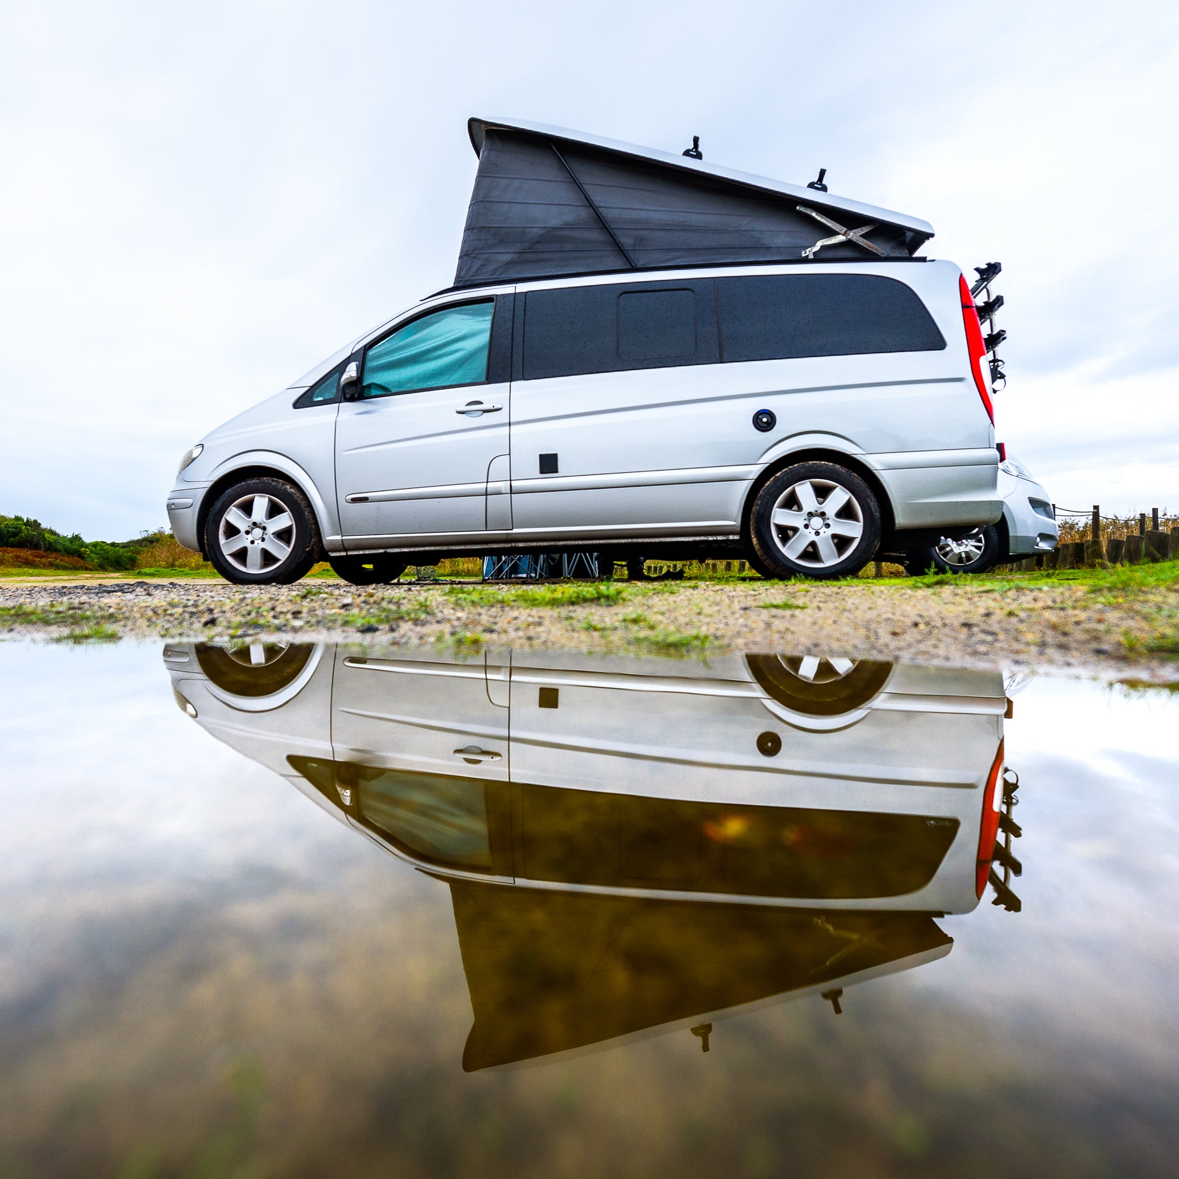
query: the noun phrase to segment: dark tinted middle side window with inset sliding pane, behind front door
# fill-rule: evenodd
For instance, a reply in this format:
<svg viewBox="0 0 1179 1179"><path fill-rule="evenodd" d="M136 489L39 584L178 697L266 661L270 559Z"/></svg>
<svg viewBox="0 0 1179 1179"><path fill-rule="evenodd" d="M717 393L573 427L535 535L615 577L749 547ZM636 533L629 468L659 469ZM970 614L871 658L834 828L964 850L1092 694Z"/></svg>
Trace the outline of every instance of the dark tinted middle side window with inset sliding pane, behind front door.
<svg viewBox="0 0 1179 1179"><path fill-rule="evenodd" d="M714 364L714 298L711 279L528 291L521 376Z"/></svg>

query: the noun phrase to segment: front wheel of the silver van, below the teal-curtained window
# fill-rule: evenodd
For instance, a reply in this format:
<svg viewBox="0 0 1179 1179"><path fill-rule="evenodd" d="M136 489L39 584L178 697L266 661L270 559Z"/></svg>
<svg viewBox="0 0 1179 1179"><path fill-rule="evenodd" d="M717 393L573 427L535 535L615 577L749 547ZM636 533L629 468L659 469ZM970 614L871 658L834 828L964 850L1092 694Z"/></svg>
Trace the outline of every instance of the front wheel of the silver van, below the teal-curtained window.
<svg viewBox="0 0 1179 1179"><path fill-rule="evenodd" d="M205 551L226 581L290 585L318 559L315 513L297 487L269 476L248 479L213 505Z"/></svg>

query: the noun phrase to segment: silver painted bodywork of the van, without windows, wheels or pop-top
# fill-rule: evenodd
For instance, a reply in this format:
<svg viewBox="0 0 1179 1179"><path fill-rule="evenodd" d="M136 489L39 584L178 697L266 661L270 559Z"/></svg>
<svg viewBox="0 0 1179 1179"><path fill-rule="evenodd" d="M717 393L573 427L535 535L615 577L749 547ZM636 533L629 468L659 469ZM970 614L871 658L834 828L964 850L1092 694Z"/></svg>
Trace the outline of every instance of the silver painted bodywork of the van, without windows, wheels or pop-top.
<svg viewBox="0 0 1179 1179"><path fill-rule="evenodd" d="M304 387L390 328L475 295L515 290L519 353L529 291L849 272L908 285L947 347L515 380L294 408ZM816 452L834 461L855 456L872 473L897 528L989 523L1002 513L999 456L970 375L959 276L948 262L837 262L628 272L443 292L358 337L297 387L209 434L203 454L170 496L173 531L183 545L198 548L205 493L235 469L258 465L299 483L334 553L345 547L411 553L528 544L733 542L759 475L795 454ZM519 360L513 361L516 371ZM494 421L490 414L470 420L457 411L470 400L502 410ZM760 409L776 415L769 433L752 428ZM555 474L540 473L541 454L558 456Z"/></svg>

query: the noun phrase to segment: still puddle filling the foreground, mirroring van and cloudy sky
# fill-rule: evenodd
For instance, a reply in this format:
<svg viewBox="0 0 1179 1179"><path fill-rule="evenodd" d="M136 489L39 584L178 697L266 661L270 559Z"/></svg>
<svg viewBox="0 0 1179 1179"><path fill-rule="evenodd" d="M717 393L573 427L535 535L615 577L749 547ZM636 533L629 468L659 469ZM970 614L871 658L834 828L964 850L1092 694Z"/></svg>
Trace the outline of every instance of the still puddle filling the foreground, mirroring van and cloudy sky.
<svg viewBox="0 0 1179 1179"><path fill-rule="evenodd" d="M1146 1175L1179 1146L1165 693L2 644L0 705L0 1175Z"/></svg>

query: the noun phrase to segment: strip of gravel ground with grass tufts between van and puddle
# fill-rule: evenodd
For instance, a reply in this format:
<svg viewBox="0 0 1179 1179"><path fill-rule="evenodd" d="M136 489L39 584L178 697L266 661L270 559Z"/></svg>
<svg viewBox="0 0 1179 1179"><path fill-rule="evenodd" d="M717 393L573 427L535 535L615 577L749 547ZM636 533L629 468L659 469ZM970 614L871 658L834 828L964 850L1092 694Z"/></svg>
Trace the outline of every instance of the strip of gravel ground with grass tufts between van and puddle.
<svg viewBox="0 0 1179 1179"><path fill-rule="evenodd" d="M1179 679L1177 591L1179 584L1172 584L1119 597L1078 584L986 579L933 587L623 581L529 590L454 582L9 584L0 586L0 634L74 641L228 641L263 633L356 640L371 634L407 645L486 641L685 656L735 646L963 666L1088 668L1165 681ZM569 600L601 593L614 600Z"/></svg>

